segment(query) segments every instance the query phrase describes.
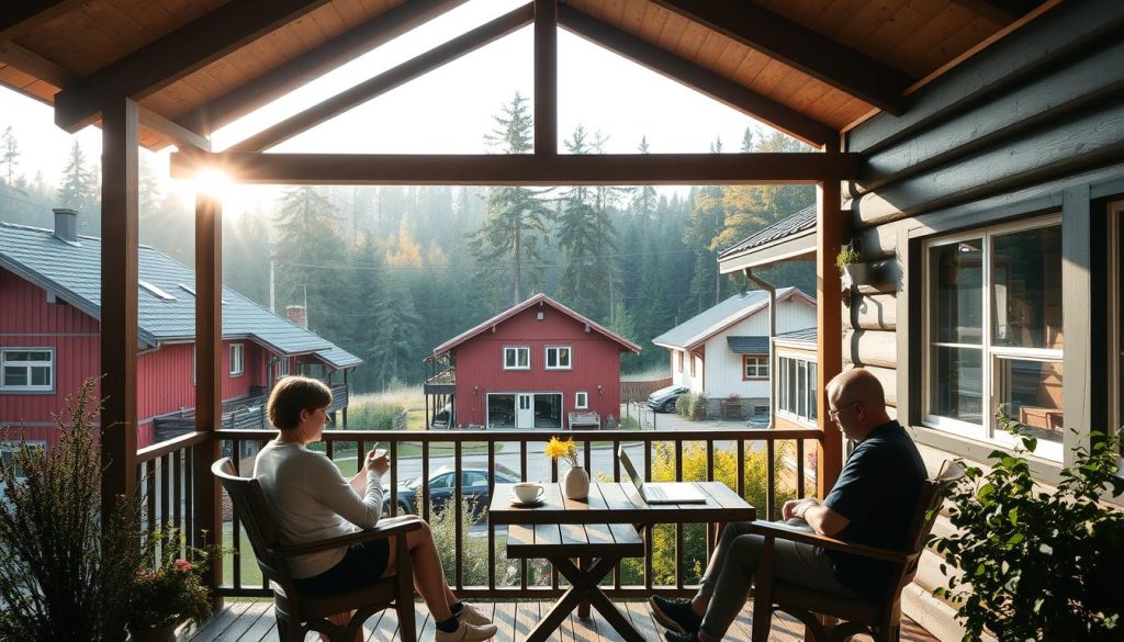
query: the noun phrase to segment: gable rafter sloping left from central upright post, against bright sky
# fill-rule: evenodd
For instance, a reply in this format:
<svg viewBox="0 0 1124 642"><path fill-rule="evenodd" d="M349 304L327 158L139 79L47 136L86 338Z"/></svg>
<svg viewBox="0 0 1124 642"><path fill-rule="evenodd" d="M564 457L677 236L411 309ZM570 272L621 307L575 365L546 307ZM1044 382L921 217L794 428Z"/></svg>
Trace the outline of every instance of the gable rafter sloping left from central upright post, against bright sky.
<svg viewBox="0 0 1124 642"><path fill-rule="evenodd" d="M444 64L502 38L529 25L534 18L534 4L524 4L374 78L363 81L351 89L342 91L320 103L314 105L263 132L259 132L238 144L232 145L228 151L262 152L283 143L302 132L316 127L320 123L339 116L348 109L357 107L396 87L400 87L415 78L425 75Z"/></svg>

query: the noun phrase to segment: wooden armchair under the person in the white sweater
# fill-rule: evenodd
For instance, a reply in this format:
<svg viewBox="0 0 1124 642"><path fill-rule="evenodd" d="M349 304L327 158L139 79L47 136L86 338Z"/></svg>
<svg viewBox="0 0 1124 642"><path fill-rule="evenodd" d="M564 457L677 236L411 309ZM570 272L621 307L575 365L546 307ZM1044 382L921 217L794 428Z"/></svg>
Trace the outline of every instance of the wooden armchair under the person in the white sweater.
<svg viewBox="0 0 1124 642"><path fill-rule="evenodd" d="M230 496L234 513L246 530L262 576L273 589L278 638L281 642L302 641L310 631L323 633L333 642L352 642L371 615L390 606L398 611L402 642L415 642L414 572L406 550L406 537L402 535L422 527L417 517L396 518L393 523L380 523L374 528L351 535L284 546L278 539L278 531L257 480L237 477L229 458L216 461L211 465L211 472ZM290 557L391 535L399 535L396 537L398 555L395 575L362 589L323 596L300 595L293 586L288 562ZM333 615L352 611L355 613L346 627L329 620Z"/></svg>

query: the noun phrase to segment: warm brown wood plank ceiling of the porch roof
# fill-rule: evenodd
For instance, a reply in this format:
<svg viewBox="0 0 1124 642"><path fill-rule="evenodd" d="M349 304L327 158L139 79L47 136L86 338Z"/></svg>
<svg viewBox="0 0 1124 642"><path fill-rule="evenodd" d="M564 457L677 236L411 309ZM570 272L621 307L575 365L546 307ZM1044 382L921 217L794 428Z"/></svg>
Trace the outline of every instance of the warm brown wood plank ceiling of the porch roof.
<svg viewBox="0 0 1124 642"><path fill-rule="evenodd" d="M56 123L72 130L97 121L102 97L125 93L157 120L207 135L464 1L4 2L0 84L54 105ZM1001 35L1040 4L559 3L563 28L813 142L874 110L907 109L910 87ZM169 144L160 129L144 127L142 144Z"/></svg>

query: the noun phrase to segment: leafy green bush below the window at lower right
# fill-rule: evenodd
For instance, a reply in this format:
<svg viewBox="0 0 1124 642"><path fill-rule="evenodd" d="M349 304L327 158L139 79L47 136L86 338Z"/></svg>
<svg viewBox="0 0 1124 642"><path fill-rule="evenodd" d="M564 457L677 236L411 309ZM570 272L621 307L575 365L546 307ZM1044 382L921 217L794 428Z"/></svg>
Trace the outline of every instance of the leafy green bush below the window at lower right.
<svg viewBox="0 0 1124 642"><path fill-rule="evenodd" d="M1118 440L1090 433L1091 446L1075 449L1050 491L1035 483L1026 459L1037 440L1001 409L996 418L1021 446L992 452L987 472L961 462L964 477L946 489L958 531L935 539L949 587L935 594L959 606L966 641L985 630L1000 642L1120 640L1124 513L1100 503L1124 492Z"/></svg>

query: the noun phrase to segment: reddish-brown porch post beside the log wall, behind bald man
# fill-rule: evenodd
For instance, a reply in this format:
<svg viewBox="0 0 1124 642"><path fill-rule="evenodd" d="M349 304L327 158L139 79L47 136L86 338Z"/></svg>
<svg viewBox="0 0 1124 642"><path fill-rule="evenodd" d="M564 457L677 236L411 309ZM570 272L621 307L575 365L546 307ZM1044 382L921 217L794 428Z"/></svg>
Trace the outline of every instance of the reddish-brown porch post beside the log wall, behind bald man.
<svg viewBox="0 0 1124 642"><path fill-rule="evenodd" d="M839 148L825 146L827 153ZM823 437L816 458L816 490L818 497L827 492L843 468L843 435L827 416L830 407L824 388L843 371L843 282L835 257L840 253L846 220L842 211L842 180L825 175L816 186L816 421Z"/></svg>

